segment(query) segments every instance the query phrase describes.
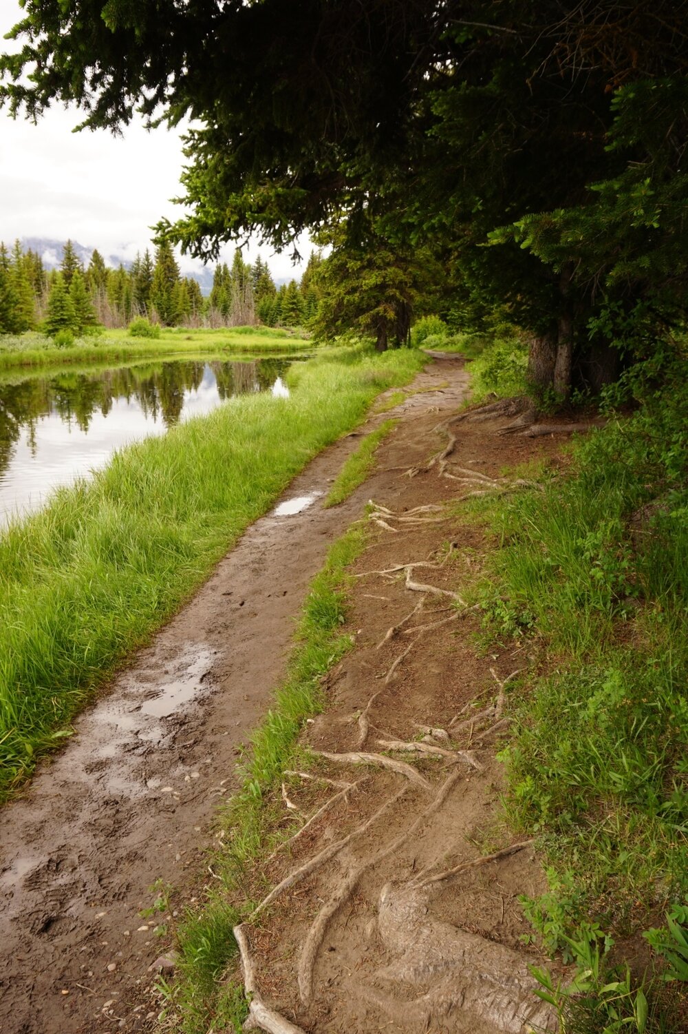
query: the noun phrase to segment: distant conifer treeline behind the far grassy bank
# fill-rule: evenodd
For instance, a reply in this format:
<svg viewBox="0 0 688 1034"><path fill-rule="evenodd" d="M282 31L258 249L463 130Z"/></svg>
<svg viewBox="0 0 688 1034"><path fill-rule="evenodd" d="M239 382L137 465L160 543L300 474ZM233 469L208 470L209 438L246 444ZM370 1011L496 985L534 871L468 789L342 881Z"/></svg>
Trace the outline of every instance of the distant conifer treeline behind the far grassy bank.
<svg viewBox="0 0 688 1034"><path fill-rule="evenodd" d="M153 255L148 248L137 253L130 269L106 266L97 249L85 266L67 241L59 268L50 271L19 241L11 250L0 243L0 333L40 329L52 336L81 335L98 327L127 327L142 316L163 327L300 326L317 312L314 273L320 262L314 252L300 284L291 280L277 287L260 256L249 264L237 249L230 266L216 266L213 287L204 297L197 280L181 275L166 241Z"/></svg>

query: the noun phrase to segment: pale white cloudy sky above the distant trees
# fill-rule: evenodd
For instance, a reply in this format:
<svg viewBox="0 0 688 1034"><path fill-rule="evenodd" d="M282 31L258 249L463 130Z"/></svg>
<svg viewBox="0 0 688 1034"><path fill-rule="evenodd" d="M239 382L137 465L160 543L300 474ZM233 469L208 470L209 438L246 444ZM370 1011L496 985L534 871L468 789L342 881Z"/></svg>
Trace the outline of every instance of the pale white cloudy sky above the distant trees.
<svg viewBox="0 0 688 1034"><path fill-rule="evenodd" d="M18 0L0 0L0 47L17 44L1 37L22 18ZM13 121L0 110L0 240L71 238L104 255L133 258L150 245L149 227L182 209L169 202L180 193L183 162L179 135L159 128L148 132L131 125L123 136L85 130L72 132L79 111L55 107L38 125ZM308 255L308 244L302 253ZM247 261L257 249L244 251ZM233 247L225 249L231 261ZM277 278L299 276L287 253L260 254ZM199 263L183 257L184 272Z"/></svg>

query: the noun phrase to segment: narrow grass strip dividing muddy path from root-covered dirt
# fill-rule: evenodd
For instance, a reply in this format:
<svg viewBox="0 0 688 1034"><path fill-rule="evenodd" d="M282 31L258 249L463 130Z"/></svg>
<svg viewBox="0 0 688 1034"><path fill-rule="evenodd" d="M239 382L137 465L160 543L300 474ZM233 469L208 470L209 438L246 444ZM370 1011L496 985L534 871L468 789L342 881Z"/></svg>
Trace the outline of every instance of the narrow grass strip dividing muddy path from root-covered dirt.
<svg viewBox="0 0 688 1034"><path fill-rule="evenodd" d="M306 719L324 706L321 676L353 645L352 637L341 631L346 569L365 541L362 525L354 524L331 547L311 583L286 679L246 752L242 788L220 817L227 835L212 862L217 888L199 911L187 913L177 930L180 959L175 980L161 990L171 1028L184 1034L205 1034L211 1028L239 1032L246 1018L243 990L220 979L237 953L231 927L250 910L251 869L273 847L278 828L274 797L279 795L284 770L293 766L299 733Z"/></svg>

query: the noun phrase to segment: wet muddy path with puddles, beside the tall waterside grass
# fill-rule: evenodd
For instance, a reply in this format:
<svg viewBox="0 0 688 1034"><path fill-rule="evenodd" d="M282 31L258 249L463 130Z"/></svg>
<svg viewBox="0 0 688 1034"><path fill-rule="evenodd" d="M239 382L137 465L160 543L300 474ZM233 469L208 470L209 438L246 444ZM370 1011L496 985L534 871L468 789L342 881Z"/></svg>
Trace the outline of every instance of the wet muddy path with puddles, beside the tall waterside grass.
<svg viewBox="0 0 688 1034"><path fill-rule="evenodd" d="M361 431L398 417L393 438L421 452L416 428L456 410L466 382L461 361L436 361L414 382L421 394ZM2 811L2 1034L150 1028L150 968L162 950L155 920L142 918L151 886L192 893L240 744L284 674L309 580L371 493L398 492L398 472L380 469L345 504L322 509L319 495L357 440L309 464L283 500L308 505L249 528Z"/></svg>

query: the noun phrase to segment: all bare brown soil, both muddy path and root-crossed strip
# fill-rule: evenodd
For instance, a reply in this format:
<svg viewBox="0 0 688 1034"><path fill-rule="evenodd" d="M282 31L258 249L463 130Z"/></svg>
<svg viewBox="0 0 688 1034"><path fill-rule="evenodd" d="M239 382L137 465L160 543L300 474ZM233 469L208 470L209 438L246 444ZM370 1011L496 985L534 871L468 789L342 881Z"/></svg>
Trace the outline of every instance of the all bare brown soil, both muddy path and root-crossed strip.
<svg viewBox="0 0 688 1034"><path fill-rule="evenodd" d="M214 809L231 792L240 744L283 676L307 584L326 547L362 516L369 497L393 516L379 512L388 528L371 524L349 626L356 646L329 676L330 707L308 725L304 744L388 755L380 740L417 741L427 727L445 730L449 738L431 736L431 746L455 755L394 752L421 773L425 787L384 768L318 763L317 770L332 780L365 781L277 855L270 869L275 883L390 803L365 832L281 894L259 925L247 927L260 994L292 1023L317 1032L493 1034L521 1031L526 1015L538 1020L518 904L519 894L542 887L532 849L423 885L510 844L495 819L501 776L494 755L504 728L486 734L490 721L464 723L473 701L479 706L472 713L499 703L498 680L521 667L522 659L511 649L476 656L478 617L470 610L437 629L406 635L451 616L451 597L407 588L405 571L369 573L417 560L439 565L450 549L443 565L413 569L413 578L461 591L487 548L479 530L461 517L444 519L440 510L418 511L426 523L399 520L416 507L443 507L471 489L440 476L437 464L415 477L405 473L423 468L443 448L446 435L438 424L457 412L467 388L462 361L436 359L413 388L417 394L362 428L366 432L388 415L400 419L368 482L337 508L323 510L316 500L298 514L256 522L189 605L84 713L67 748L4 809L3 1034L153 1029L151 984L164 941L153 931L158 920L142 918L142 910L155 898L156 880L183 895L198 893ZM554 458L565 440L503 438L499 425L499 419L458 425L445 473L461 477L456 472L463 468L477 472L478 481L480 475L495 478L504 466ZM318 456L288 498L324 493L356 444L357 435L348 436ZM421 598L423 608L385 640ZM367 707L362 742L359 716ZM465 707L466 714L457 718ZM456 753L461 751L472 760L467 763ZM293 778L287 792L310 815L336 790ZM348 886L338 905L337 895ZM327 905L332 916L318 920L322 937L304 994L300 960L309 936L313 940L313 921Z"/></svg>

